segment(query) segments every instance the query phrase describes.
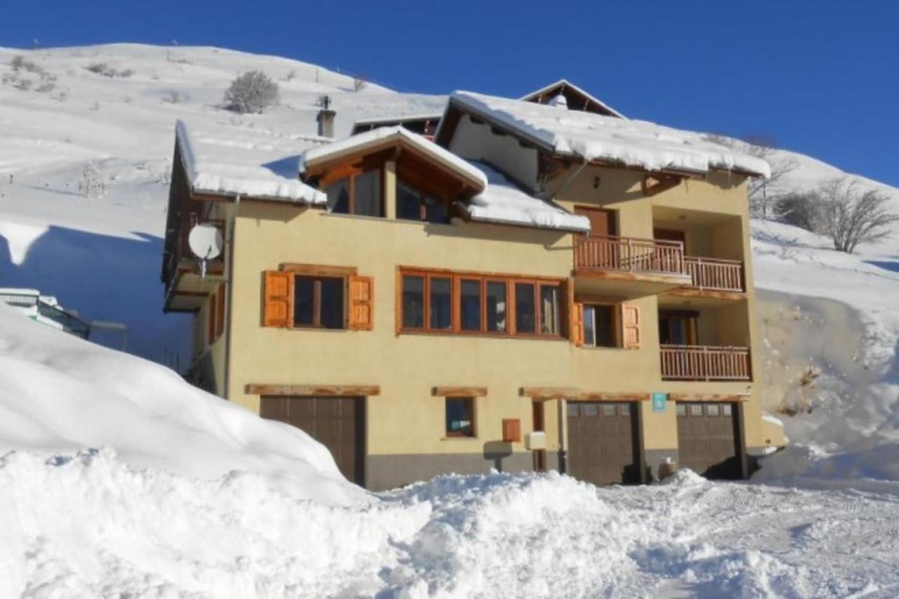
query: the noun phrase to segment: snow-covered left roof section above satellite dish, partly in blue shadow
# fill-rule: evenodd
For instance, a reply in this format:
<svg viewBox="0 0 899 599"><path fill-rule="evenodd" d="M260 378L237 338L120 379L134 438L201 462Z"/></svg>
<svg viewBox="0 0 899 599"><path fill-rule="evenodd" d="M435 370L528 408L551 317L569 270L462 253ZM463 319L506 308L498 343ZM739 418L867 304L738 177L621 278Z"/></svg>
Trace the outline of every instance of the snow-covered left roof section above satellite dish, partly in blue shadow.
<svg viewBox="0 0 899 599"><path fill-rule="evenodd" d="M268 130L175 126L184 171L194 192L325 204L325 193L299 180L299 155L324 139Z"/></svg>

